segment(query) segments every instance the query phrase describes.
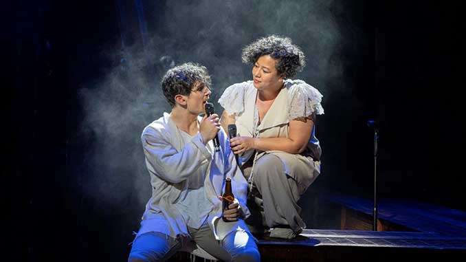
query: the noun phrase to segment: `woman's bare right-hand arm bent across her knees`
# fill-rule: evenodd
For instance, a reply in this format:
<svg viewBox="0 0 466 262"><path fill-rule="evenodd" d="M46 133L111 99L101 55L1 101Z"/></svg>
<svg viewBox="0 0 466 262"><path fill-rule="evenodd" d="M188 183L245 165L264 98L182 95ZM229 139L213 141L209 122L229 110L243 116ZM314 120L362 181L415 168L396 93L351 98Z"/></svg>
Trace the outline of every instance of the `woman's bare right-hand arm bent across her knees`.
<svg viewBox="0 0 466 262"><path fill-rule="evenodd" d="M298 118L289 122L288 138L237 137L230 140L235 154L249 149L260 151L278 150L298 154L304 151L311 138L314 122L312 118Z"/></svg>

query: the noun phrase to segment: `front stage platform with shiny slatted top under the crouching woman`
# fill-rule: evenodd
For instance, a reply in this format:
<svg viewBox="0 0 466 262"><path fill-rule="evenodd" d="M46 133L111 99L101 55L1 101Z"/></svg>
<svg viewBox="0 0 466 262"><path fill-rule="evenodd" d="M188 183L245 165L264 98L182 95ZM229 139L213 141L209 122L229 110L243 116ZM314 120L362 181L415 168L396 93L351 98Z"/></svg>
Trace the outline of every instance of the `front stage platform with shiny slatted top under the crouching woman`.
<svg viewBox="0 0 466 262"><path fill-rule="evenodd" d="M297 239L260 239L261 261L457 261L466 237L425 232L303 230ZM462 259L460 259L462 260Z"/></svg>

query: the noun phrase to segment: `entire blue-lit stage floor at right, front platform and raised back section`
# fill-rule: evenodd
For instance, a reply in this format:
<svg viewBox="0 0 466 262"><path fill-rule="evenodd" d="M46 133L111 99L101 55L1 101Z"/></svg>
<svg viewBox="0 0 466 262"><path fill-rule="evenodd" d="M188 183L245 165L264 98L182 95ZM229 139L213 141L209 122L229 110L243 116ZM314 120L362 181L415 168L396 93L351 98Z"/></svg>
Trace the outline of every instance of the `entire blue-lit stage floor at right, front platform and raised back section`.
<svg viewBox="0 0 466 262"><path fill-rule="evenodd" d="M372 201L320 195L313 206L319 221L335 229L304 229L292 240L258 239L261 261L456 261L466 257L466 212L431 204L383 199L373 231ZM335 219L336 218L336 219ZM192 258L191 258L192 260ZM179 259L177 261L186 261ZM194 261L204 261L197 257Z"/></svg>

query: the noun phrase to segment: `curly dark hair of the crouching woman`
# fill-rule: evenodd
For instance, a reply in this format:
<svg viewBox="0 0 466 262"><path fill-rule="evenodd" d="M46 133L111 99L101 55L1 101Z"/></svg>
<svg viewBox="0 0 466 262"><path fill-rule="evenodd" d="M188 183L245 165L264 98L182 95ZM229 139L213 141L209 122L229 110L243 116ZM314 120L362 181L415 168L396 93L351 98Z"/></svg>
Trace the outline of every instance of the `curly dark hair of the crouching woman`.
<svg viewBox="0 0 466 262"><path fill-rule="evenodd" d="M243 63L254 65L260 56L266 54L278 61L276 65L278 74L284 74L285 78L296 76L306 65L305 56L300 47L291 43L288 37L274 34L257 39L244 47L241 58Z"/></svg>

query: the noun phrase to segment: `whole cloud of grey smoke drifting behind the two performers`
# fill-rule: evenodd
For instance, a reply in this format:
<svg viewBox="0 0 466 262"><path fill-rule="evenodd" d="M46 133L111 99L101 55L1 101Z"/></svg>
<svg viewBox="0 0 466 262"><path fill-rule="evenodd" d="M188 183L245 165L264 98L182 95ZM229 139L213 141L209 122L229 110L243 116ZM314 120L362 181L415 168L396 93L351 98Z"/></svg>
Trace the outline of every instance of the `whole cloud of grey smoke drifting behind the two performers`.
<svg viewBox="0 0 466 262"><path fill-rule="evenodd" d="M341 38L332 13L337 4L206 0L145 7L150 41L144 48L107 50L112 66L80 91L85 113L81 131L92 138L85 156L86 193L115 205L137 198L137 210L142 212L151 188L140 134L170 110L159 80L174 65L194 61L208 68L214 87L211 101L221 113L217 100L223 90L251 78L251 68L241 63L241 49L269 34L288 36L307 55L307 67L296 78L318 88L325 107L332 91L329 79L342 75L334 56Z"/></svg>

